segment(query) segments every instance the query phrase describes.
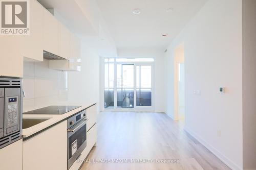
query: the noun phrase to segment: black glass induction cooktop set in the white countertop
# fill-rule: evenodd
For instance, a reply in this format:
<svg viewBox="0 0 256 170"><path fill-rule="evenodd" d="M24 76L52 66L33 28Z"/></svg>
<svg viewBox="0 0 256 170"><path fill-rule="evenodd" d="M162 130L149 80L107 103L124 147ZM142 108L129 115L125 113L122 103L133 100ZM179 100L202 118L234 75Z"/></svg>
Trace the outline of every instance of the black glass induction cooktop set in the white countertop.
<svg viewBox="0 0 256 170"><path fill-rule="evenodd" d="M81 106L48 106L36 110L31 110L23 114L64 114Z"/></svg>

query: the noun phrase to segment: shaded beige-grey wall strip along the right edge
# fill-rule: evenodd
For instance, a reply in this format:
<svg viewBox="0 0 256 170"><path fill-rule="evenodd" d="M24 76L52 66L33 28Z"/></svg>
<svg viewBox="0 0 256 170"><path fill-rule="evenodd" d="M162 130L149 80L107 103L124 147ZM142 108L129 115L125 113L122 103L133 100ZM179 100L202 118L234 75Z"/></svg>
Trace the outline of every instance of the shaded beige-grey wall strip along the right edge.
<svg viewBox="0 0 256 170"><path fill-rule="evenodd" d="M256 1L243 0L243 165L256 169Z"/></svg>

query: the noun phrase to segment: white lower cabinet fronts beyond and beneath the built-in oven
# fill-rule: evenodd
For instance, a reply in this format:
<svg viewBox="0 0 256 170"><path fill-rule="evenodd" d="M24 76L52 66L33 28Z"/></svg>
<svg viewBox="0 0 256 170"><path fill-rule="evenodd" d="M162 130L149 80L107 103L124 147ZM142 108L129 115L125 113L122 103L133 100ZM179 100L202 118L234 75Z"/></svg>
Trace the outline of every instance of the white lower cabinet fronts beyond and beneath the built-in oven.
<svg viewBox="0 0 256 170"><path fill-rule="evenodd" d="M96 113L95 113L96 114ZM86 149L83 150L80 157L74 162L69 170L77 170L87 158L89 152L92 150L93 146L96 144L97 140L97 124L95 124L89 131L87 131L87 145Z"/></svg>

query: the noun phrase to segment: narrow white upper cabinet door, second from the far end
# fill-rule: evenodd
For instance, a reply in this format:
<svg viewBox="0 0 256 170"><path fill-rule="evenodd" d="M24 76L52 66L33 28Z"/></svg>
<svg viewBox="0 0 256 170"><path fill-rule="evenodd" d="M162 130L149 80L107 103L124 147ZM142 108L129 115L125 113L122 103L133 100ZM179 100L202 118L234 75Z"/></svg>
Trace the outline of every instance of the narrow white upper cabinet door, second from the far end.
<svg viewBox="0 0 256 170"><path fill-rule="evenodd" d="M70 32L61 22L59 22L59 56L70 58Z"/></svg>

